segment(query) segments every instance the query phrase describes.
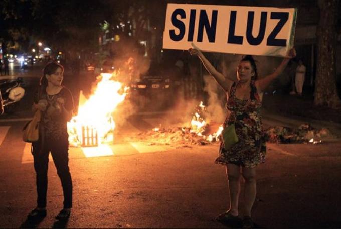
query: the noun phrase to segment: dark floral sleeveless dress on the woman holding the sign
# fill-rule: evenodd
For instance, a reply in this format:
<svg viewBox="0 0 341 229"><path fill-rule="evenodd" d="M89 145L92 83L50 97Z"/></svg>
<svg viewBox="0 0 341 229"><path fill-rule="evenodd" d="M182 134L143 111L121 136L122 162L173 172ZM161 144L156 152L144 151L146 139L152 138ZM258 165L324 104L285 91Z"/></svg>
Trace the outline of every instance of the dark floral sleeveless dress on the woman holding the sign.
<svg viewBox="0 0 341 229"><path fill-rule="evenodd" d="M236 164L253 168L265 162L266 145L262 121L260 117L261 100L257 93L255 81L251 81L250 98L246 100L236 97L237 84L231 87L229 99L226 103L228 114L224 128L235 124L239 141L230 149L225 150L221 141L217 164Z"/></svg>

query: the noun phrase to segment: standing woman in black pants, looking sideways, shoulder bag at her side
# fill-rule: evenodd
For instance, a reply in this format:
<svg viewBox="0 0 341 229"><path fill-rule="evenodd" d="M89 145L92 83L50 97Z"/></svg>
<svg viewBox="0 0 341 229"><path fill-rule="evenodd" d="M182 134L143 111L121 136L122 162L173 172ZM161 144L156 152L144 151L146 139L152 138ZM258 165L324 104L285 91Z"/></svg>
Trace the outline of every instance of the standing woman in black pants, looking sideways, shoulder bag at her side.
<svg viewBox="0 0 341 229"><path fill-rule="evenodd" d="M52 62L44 68L40 89L35 96L33 110L42 112L39 140L32 144L37 184L37 207L28 215L29 219L46 216L47 171L49 153L57 168L64 193L64 207L56 219L67 219L72 207L72 180L69 171L69 142L67 122L74 108L71 92L62 86L64 68Z"/></svg>

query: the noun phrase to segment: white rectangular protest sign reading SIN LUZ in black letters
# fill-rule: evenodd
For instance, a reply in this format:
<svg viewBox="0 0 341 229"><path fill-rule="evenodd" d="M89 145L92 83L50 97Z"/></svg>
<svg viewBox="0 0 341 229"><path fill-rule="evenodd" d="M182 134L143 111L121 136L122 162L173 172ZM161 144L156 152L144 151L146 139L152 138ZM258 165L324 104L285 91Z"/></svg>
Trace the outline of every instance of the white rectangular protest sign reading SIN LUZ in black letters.
<svg viewBox="0 0 341 229"><path fill-rule="evenodd" d="M164 49L286 56L293 46L295 8L168 4Z"/></svg>

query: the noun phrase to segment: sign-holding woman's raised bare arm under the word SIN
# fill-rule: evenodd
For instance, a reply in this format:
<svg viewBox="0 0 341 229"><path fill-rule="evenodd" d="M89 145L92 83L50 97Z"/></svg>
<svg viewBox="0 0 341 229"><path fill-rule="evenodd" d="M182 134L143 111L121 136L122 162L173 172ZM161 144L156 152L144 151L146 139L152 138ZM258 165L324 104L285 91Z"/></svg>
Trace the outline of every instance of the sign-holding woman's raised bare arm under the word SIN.
<svg viewBox="0 0 341 229"><path fill-rule="evenodd" d="M228 92L231 88L231 85L233 84L233 81L226 78L222 73L218 72L200 50L190 48L188 51L191 55L199 57L210 75L212 75L216 79L218 84L225 90L225 92Z"/></svg>

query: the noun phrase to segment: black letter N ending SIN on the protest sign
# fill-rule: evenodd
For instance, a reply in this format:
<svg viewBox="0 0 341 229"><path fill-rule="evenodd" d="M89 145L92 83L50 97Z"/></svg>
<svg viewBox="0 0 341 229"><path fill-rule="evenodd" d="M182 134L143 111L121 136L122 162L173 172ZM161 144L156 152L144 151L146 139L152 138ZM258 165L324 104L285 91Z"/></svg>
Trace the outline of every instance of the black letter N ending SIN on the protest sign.
<svg viewBox="0 0 341 229"><path fill-rule="evenodd" d="M211 20L211 25L210 25L206 11L200 10L199 30L198 30L197 41L199 42L203 41L204 26L205 26L205 30L206 30L209 42L214 42L216 40L217 15L218 15L217 10L212 11L212 20Z"/></svg>

